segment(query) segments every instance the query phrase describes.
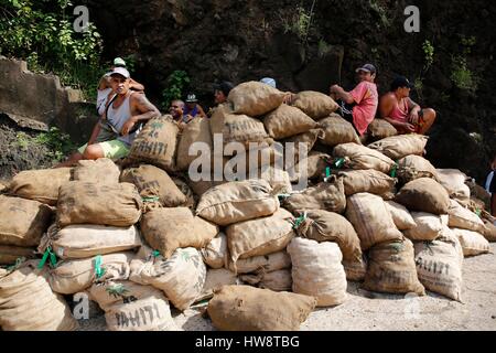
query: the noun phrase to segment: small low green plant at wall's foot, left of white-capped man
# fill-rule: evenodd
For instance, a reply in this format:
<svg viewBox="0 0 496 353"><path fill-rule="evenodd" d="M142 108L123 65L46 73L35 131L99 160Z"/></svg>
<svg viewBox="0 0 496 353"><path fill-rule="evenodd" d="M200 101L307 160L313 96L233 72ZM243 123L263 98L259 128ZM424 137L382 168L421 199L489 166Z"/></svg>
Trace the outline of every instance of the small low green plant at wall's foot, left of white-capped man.
<svg viewBox="0 0 496 353"><path fill-rule="evenodd" d="M48 150L48 158L53 162L61 162L64 156L75 150L74 143L71 141L71 137L63 133L58 128L52 127L46 132L41 132L35 137L31 137L25 132L17 133L19 148L26 150L30 147L45 147Z"/></svg>

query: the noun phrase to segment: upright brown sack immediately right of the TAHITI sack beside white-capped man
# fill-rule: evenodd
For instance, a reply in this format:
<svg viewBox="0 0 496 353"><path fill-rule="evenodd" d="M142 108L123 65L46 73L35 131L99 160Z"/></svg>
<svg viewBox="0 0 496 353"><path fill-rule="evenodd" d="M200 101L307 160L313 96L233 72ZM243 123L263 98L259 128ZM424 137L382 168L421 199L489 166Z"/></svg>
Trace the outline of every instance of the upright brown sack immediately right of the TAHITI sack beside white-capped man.
<svg viewBox="0 0 496 353"><path fill-rule="evenodd" d="M190 153L193 143L204 143L204 149L213 150L211 121L208 119L193 119L181 133L177 146L176 170L187 171L190 164L200 157L200 153Z"/></svg>

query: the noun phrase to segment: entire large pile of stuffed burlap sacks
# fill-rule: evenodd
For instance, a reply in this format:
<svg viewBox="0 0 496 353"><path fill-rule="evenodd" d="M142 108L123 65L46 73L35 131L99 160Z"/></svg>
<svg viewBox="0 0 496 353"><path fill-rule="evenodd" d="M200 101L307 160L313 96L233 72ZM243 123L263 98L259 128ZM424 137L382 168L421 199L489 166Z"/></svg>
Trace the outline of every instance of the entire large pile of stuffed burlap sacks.
<svg viewBox="0 0 496 353"><path fill-rule="evenodd" d="M112 331L179 330L171 307L206 300L219 330L298 330L315 307L344 303L347 280L462 301L464 257L496 238L479 189L424 159L423 136L376 120L365 146L328 96L283 100L241 84L212 119L184 130L170 116L151 120L118 164L13 178L0 195L0 328L74 330L66 299L79 292ZM200 156L190 147L218 153L215 133L247 154L265 142L257 152L268 158L248 165L257 178L190 178ZM274 141L311 152L277 173ZM293 192L302 168L309 188Z"/></svg>

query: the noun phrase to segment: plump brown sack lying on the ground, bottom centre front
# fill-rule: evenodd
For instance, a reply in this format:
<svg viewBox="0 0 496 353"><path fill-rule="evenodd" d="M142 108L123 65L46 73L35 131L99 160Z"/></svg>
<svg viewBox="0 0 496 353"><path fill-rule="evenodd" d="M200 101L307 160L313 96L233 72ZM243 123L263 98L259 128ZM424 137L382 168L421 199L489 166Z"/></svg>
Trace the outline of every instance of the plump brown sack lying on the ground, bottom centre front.
<svg viewBox="0 0 496 353"><path fill-rule="evenodd" d="M222 331L298 331L315 298L249 286L224 286L208 303L208 315Z"/></svg>

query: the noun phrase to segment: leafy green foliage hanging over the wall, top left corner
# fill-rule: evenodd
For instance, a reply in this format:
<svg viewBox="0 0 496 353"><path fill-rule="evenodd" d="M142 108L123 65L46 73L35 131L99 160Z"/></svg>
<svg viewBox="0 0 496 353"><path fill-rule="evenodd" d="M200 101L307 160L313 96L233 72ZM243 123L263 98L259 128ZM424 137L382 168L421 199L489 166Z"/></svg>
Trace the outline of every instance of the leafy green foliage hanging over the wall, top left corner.
<svg viewBox="0 0 496 353"><path fill-rule="evenodd" d="M26 60L31 71L54 73L94 99L103 41L90 22L85 32L74 31L72 9L69 0L0 0L0 54Z"/></svg>

